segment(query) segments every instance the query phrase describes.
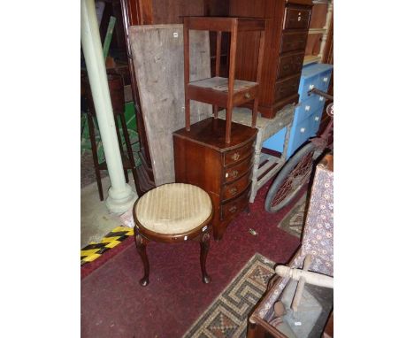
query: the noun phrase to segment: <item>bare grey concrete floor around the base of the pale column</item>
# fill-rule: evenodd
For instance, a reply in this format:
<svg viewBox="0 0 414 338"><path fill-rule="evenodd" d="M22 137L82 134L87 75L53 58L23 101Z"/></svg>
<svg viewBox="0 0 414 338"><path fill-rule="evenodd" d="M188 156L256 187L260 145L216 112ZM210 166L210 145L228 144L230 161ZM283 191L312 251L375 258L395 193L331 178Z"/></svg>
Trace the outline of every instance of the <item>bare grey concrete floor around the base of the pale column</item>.
<svg viewBox="0 0 414 338"><path fill-rule="evenodd" d="M131 173L128 184L135 191ZM80 249L90 242L100 242L113 228L123 225L119 215L111 214L105 205L108 189L111 186L109 176L102 179L102 186L103 201L99 199L96 181L80 189Z"/></svg>

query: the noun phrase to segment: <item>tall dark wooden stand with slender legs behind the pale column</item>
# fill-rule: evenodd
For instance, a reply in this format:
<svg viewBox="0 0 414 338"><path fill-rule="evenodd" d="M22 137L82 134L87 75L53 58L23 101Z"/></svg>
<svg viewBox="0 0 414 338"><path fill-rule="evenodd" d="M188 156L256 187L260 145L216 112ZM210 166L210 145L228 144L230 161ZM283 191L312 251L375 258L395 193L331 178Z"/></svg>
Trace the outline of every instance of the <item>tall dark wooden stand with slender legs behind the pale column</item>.
<svg viewBox="0 0 414 338"><path fill-rule="evenodd" d="M131 170L133 177L134 177L134 184L136 193L138 196L142 195L142 190L139 185L138 181L138 173L135 165L134 160L134 153L132 150L131 142L129 140L128 128L126 127L126 119L125 119L125 110L124 110L124 82L122 80L122 76L118 73L108 73L108 86L110 88L110 95L111 95L111 104L113 110L113 117L115 119L115 129L117 131L118 142L119 142L119 150L122 159L122 165L124 168L125 173L125 180L126 183L128 180L128 169ZM98 186L99 191L99 198L103 201L103 189L102 189L102 182L101 182L101 170L108 170L106 162L103 161L99 163L97 157L97 149L96 149L96 138L95 138L95 126L94 126L94 118L96 117L95 105L92 98L92 93L89 87L88 78L85 76L82 78L84 83L84 87L86 88L86 95L88 99L88 129L89 129L89 138L90 144L92 149L92 157L94 159L94 166L95 166L95 174L96 174L96 183ZM122 145L121 135L119 133L119 121L120 127L122 128L122 134L124 136L125 145L126 145L126 154Z"/></svg>

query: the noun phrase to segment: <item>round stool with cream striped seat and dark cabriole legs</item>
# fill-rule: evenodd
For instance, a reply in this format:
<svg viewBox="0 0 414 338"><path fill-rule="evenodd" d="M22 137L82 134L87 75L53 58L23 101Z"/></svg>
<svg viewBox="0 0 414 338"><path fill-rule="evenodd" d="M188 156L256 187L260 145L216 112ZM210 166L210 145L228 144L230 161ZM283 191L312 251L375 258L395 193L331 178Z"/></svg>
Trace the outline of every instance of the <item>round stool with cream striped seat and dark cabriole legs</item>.
<svg viewBox="0 0 414 338"><path fill-rule="evenodd" d="M134 237L144 265L140 283L149 283L149 260L146 246L154 242L200 242L200 264L203 282L211 278L206 272L205 261L210 246L212 218L210 196L191 184L170 183L149 190L134 204Z"/></svg>

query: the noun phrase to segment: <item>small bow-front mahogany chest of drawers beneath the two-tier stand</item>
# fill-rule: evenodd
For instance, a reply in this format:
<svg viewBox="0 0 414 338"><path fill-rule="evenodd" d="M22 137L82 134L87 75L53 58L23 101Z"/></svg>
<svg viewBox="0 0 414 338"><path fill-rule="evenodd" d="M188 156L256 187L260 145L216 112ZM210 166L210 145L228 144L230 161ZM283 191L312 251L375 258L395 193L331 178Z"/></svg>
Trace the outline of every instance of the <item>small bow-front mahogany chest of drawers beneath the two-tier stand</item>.
<svg viewBox="0 0 414 338"><path fill-rule="evenodd" d="M228 121L228 120L227 120ZM233 137L225 140L224 119L204 119L173 133L175 181L194 184L211 196L216 240L249 205L253 143L257 129L232 122Z"/></svg>

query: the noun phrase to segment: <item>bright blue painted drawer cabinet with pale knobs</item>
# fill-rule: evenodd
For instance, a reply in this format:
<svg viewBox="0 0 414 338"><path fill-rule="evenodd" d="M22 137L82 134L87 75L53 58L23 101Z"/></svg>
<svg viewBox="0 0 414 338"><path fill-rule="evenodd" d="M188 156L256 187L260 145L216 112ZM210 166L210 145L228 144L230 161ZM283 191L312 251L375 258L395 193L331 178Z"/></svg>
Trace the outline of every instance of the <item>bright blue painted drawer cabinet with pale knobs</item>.
<svg viewBox="0 0 414 338"><path fill-rule="evenodd" d="M287 158L318 132L325 98L315 94L308 96L308 91L312 88L326 91L331 81L333 68L333 65L325 64L311 64L303 67L298 90L299 104L295 108L295 117L290 130ZM282 152L286 131L285 127L272 135L263 143L263 147Z"/></svg>

